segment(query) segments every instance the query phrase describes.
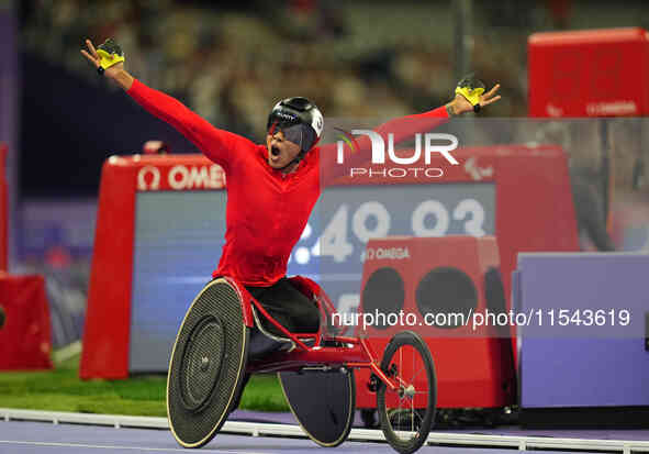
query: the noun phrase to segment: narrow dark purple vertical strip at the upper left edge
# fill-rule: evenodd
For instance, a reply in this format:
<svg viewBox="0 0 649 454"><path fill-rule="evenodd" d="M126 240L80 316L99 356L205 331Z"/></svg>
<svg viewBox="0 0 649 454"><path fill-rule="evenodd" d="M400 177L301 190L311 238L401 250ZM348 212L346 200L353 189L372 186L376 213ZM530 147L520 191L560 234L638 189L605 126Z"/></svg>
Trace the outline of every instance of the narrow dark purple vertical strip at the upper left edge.
<svg viewBox="0 0 649 454"><path fill-rule="evenodd" d="M15 262L18 200L18 122L19 66L18 31L13 2L0 7L0 142L9 146L7 180L9 184L9 266Z"/></svg>

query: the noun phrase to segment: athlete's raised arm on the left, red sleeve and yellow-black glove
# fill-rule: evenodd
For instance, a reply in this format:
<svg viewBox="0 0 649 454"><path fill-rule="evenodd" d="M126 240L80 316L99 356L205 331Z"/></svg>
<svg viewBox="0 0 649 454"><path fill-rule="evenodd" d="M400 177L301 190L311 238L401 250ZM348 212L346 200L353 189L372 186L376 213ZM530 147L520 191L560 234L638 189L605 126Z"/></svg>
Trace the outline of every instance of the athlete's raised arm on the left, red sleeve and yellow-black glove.
<svg viewBox="0 0 649 454"><path fill-rule="evenodd" d="M88 51L81 54L94 65L101 67L101 58L90 40L86 40ZM192 112L177 99L147 87L135 79L124 68L124 63L116 63L103 70L103 75L118 84L145 110L169 123L182 135L195 144L210 159L220 164L227 171L236 159L235 151L254 144L240 135L214 128L210 122Z"/></svg>

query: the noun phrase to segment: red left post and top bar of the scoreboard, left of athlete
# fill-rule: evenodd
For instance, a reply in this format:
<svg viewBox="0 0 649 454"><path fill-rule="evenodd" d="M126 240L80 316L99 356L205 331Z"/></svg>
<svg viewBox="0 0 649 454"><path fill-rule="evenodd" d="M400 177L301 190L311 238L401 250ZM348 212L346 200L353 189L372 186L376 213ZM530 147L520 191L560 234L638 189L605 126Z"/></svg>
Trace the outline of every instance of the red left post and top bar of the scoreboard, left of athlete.
<svg viewBox="0 0 649 454"><path fill-rule="evenodd" d="M179 167L188 175L175 171ZM179 184L192 190L214 189L216 184L223 186L222 171L216 170L217 166L202 155L112 156L104 163L79 367L81 378L128 376L135 192L181 190ZM179 180L183 175L188 178Z"/></svg>

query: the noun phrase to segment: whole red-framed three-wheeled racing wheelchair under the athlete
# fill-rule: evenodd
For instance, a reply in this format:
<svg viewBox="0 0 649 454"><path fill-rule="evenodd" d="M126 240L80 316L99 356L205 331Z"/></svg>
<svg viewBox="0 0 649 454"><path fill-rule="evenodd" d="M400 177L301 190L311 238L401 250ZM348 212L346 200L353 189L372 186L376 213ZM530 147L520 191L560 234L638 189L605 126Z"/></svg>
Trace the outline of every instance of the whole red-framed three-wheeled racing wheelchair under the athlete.
<svg viewBox="0 0 649 454"><path fill-rule="evenodd" d="M317 284L290 279L318 307L316 333L289 332L226 276L195 297L178 331L167 378L169 427L178 443L200 447L210 442L236 407L246 374L277 373L306 435L322 446L337 446L354 422L354 370L365 368L387 441L400 453L418 450L436 411L437 381L426 343L402 331L379 362L367 339L339 335L339 318ZM283 335L272 334L269 323Z"/></svg>

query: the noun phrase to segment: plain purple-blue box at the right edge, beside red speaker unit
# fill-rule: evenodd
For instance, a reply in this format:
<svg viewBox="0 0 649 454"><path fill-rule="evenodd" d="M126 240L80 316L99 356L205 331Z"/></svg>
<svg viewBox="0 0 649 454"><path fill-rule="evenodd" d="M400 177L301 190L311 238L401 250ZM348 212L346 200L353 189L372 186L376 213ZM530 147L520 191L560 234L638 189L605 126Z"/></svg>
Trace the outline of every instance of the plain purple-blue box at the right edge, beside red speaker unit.
<svg viewBox="0 0 649 454"><path fill-rule="evenodd" d="M519 329L523 408L649 406L649 255L519 254L515 279L513 302L525 313L628 309L631 319L550 328L546 317L542 328Z"/></svg>

